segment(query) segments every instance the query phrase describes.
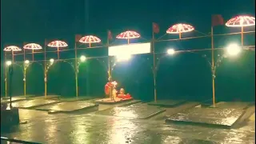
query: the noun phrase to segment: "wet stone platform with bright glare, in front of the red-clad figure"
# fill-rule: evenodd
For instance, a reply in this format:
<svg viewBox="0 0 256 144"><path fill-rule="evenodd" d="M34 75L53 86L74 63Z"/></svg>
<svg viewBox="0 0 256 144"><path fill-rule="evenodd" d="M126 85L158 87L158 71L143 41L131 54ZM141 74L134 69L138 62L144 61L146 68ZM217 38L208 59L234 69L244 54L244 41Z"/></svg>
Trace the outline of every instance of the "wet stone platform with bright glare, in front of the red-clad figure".
<svg viewBox="0 0 256 144"><path fill-rule="evenodd" d="M165 112L158 106L148 106L146 103L136 103L130 106L119 106L107 110L98 111L96 114L116 116L132 119L148 119Z"/></svg>

